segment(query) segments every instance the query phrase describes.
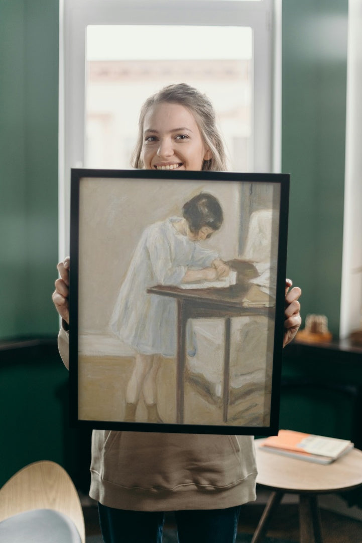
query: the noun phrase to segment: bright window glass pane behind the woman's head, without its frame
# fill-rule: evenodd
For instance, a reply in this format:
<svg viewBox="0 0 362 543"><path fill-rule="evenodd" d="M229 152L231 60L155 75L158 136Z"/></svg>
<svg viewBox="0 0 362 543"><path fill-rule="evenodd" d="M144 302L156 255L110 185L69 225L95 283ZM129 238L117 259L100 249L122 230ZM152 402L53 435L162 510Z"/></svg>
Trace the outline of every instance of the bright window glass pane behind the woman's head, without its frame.
<svg viewBox="0 0 362 543"><path fill-rule="evenodd" d="M215 106L230 169L251 169L251 28L98 24L86 43L86 167L129 168L144 100L188 83Z"/></svg>

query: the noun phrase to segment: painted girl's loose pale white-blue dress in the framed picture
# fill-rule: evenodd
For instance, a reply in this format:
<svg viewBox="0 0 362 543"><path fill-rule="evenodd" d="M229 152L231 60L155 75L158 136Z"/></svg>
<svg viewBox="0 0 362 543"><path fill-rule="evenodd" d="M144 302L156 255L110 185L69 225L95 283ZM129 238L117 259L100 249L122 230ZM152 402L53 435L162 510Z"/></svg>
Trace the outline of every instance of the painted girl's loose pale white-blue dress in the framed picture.
<svg viewBox="0 0 362 543"><path fill-rule="evenodd" d="M179 217L148 226L134 251L111 318L117 336L138 352L176 355L176 300L147 294L155 285L180 285L188 268L210 267L215 251L177 232Z"/></svg>

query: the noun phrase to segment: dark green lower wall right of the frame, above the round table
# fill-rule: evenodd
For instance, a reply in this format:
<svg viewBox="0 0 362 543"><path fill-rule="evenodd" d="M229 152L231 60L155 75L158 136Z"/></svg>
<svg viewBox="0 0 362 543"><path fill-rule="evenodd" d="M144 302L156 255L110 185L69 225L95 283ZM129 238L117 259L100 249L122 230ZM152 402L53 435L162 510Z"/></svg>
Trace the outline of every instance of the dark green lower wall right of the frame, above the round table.
<svg viewBox="0 0 362 543"><path fill-rule="evenodd" d="M283 351L280 428L351 439L362 446L361 352L292 343Z"/></svg>

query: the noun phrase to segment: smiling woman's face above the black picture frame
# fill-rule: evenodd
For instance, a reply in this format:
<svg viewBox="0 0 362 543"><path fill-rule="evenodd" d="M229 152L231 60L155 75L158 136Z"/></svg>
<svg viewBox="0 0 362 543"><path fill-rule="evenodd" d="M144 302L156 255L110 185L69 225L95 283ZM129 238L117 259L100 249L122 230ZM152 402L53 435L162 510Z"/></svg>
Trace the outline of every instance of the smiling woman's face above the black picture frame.
<svg viewBox="0 0 362 543"><path fill-rule="evenodd" d="M163 102L145 115L141 158L145 169L198 171L211 152L191 111Z"/></svg>

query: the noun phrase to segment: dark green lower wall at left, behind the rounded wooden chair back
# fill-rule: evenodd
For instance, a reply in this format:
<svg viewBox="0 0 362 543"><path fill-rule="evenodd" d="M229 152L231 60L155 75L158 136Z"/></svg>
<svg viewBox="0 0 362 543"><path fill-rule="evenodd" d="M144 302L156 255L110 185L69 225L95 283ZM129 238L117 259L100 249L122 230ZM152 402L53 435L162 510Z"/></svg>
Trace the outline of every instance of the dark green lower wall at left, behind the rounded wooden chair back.
<svg viewBox="0 0 362 543"><path fill-rule="evenodd" d="M69 427L68 371L55 339L33 343L0 350L0 487L25 465L53 460L86 493L90 431Z"/></svg>

